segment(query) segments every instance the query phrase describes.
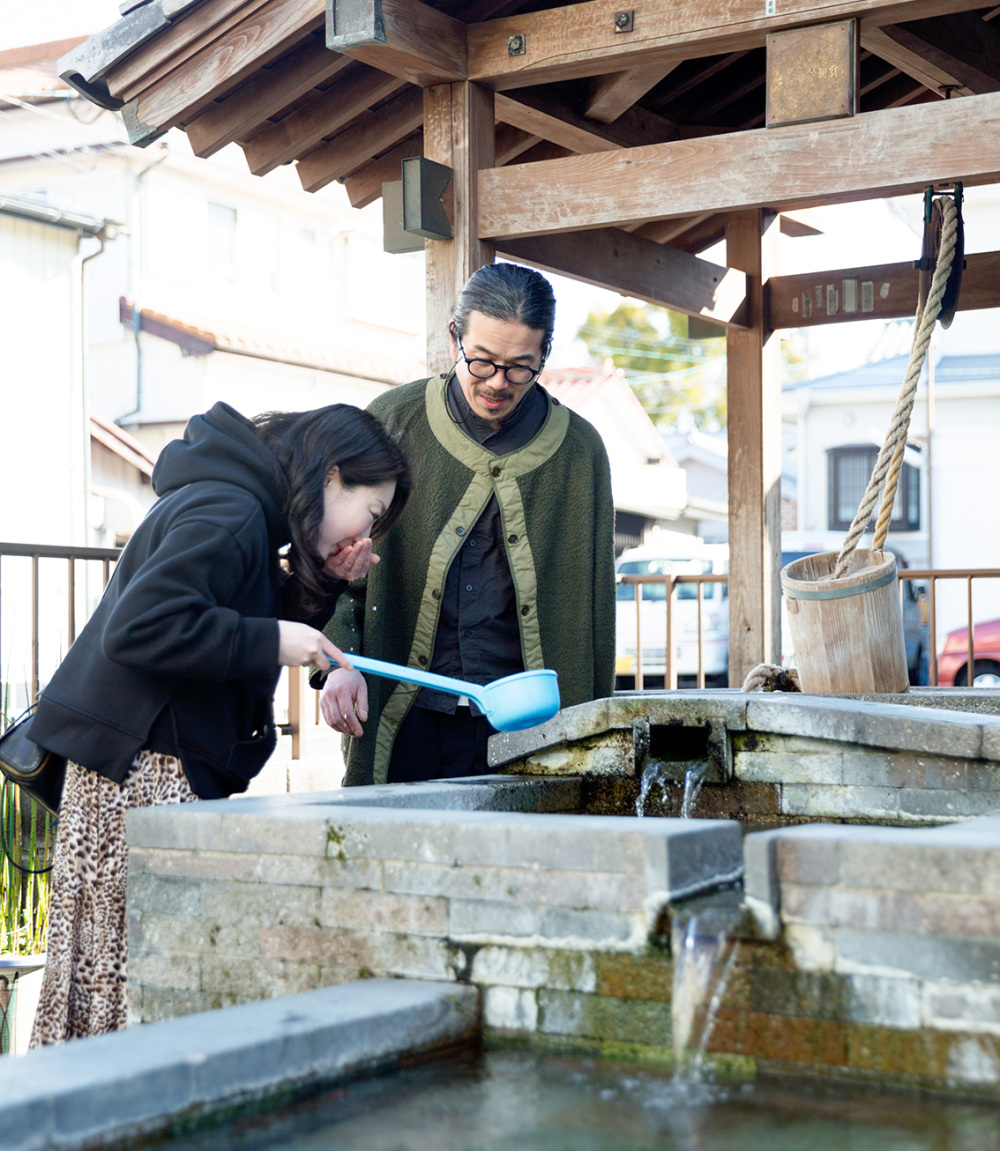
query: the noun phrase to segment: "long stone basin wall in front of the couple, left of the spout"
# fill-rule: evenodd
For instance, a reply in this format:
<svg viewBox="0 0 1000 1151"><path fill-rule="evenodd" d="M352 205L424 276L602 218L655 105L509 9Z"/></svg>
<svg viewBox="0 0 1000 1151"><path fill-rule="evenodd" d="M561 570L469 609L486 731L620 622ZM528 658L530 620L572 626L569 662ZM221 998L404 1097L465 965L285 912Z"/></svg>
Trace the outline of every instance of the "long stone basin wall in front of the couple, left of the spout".
<svg viewBox="0 0 1000 1151"><path fill-rule="evenodd" d="M579 792L498 779L130 811L132 1016L397 976L478 985L488 1028L669 1049L662 915L739 879L739 828L547 814Z"/></svg>

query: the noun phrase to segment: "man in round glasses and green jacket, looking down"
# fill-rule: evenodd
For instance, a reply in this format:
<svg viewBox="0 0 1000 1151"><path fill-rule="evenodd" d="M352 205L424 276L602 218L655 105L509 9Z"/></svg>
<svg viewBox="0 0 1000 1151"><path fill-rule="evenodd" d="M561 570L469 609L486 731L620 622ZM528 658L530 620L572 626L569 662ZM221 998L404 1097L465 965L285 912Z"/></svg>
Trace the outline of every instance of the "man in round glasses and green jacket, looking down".
<svg viewBox="0 0 1000 1151"><path fill-rule="evenodd" d="M597 432L536 384L556 300L513 264L473 274L449 327L455 367L369 405L414 475L410 503L327 634L487 684L552 668L563 706L614 679L614 511ZM488 771L494 733L468 700L333 670L320 702L345 735L346 785Z"/></svg>

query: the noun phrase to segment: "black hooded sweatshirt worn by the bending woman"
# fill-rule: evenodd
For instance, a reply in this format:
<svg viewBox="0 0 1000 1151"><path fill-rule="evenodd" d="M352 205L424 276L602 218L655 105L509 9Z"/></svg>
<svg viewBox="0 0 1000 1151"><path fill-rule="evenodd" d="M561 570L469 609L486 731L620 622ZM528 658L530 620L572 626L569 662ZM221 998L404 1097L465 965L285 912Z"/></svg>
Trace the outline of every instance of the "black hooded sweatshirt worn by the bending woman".
<svg viewBox="0 0 1000 1151"><path fill-rule="evenodd" d="M39 701L31 737L119 783L173 726L192 790L246 790L276 742L288 485L227 404L196 416L153 471L161 498Z"/></svg>

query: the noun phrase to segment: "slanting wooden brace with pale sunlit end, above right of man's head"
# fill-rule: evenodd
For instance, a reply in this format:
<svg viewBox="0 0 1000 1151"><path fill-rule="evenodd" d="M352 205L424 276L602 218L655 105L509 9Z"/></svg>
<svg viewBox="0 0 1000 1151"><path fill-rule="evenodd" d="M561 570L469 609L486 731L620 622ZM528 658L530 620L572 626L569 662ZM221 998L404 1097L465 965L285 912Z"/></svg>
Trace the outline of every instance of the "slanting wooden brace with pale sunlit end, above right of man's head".
<svg viewBox="0 0 1000 1151"><path fill-rule="evenodd" d="M747 277L620 228L507 239L497 252L583 283L727 327L746 322Z"/></svg>

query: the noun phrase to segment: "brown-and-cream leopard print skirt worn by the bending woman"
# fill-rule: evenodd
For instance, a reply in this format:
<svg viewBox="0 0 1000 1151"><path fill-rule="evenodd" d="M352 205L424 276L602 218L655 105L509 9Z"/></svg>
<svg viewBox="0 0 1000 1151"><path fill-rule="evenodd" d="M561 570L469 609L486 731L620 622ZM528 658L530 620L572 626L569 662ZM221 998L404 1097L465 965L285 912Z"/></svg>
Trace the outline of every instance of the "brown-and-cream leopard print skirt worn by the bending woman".
<svg viewBox="0 0 1000 1151"><path fill-rule="evenodd" d="M171 755L139 752L122 784L67 763L32 1047L125 1026L125 813L197 799Z"/></svg>

